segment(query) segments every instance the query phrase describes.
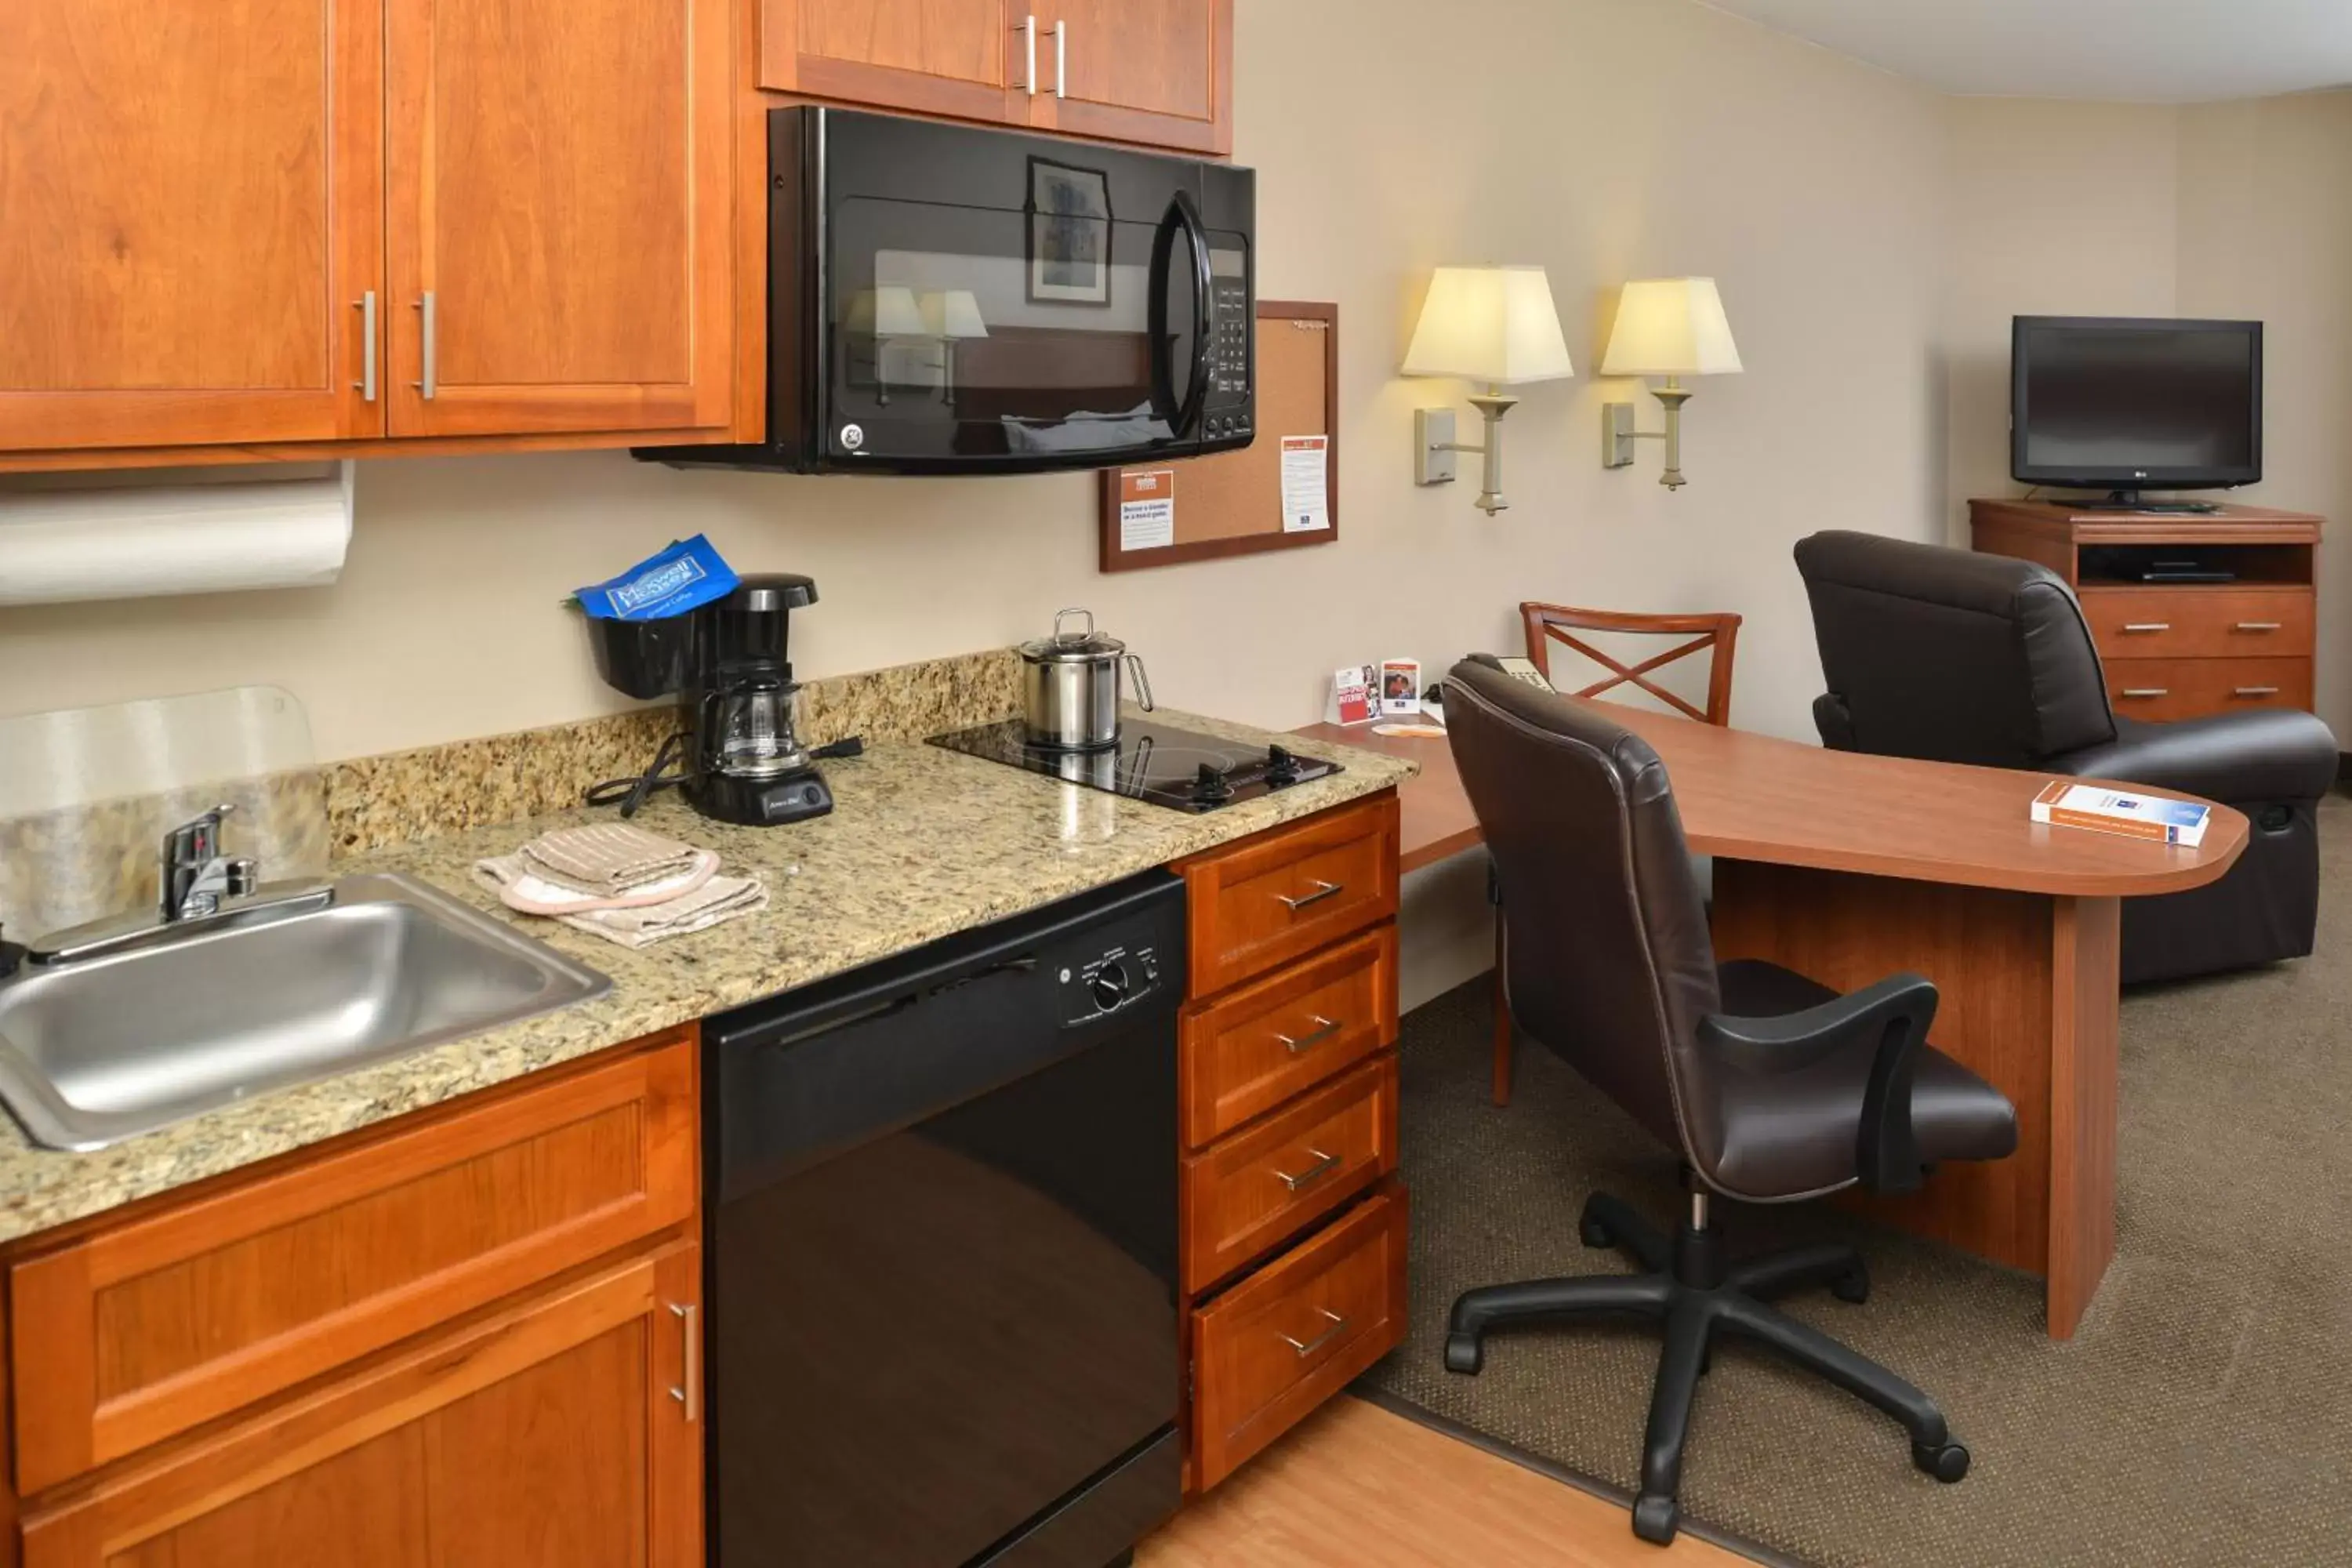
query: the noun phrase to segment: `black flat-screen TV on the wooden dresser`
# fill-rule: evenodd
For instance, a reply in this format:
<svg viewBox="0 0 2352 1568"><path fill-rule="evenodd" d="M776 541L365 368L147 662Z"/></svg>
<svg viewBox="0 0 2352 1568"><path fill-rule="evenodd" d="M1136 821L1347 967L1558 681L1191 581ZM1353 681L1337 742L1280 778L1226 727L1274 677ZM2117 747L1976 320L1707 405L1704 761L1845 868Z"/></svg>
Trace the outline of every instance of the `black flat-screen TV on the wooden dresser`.
<svg viewBox="0 0 2352 1568"><path fill-rule="evenodd" d="M2138 503L2263 477L2263 322L2020 315L2009 369L2020 484Z"/></svg>

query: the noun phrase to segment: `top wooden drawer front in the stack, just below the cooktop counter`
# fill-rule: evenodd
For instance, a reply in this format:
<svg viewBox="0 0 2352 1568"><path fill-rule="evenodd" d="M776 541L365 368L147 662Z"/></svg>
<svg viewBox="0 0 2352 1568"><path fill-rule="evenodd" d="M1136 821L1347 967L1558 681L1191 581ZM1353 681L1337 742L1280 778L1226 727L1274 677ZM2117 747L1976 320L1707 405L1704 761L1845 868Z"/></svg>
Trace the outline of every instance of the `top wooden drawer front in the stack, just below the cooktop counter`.
<svg viewBox="0 0 2352 1568"><path fill-rule="evenodd" d="M1397 797L1310 816L1185 860L1192 997L1397 912Z"/></svg>

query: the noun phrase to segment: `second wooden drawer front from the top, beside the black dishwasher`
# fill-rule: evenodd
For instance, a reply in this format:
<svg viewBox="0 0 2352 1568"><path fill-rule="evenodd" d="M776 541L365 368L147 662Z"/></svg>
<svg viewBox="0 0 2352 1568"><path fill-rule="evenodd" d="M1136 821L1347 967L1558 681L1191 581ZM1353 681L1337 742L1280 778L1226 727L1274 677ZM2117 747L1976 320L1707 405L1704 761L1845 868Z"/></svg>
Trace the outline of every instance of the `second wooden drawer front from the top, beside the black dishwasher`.
<svg viewBox="0 0 2352 1568"><path fill-rule="evenodd" d="M1397 1044L1397 926L1388 922L1183 1018L1183 1138L1202 1150Z"/></svg>

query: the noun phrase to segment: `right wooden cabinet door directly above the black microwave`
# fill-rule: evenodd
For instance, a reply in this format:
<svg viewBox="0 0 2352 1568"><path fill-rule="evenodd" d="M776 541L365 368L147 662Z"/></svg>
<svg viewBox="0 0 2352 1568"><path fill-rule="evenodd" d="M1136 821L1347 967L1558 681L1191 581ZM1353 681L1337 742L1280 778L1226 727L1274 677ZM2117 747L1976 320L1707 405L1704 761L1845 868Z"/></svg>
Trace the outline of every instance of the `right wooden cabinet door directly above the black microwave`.
<svg viewBox="0 0 2352 1568"><path fill-rule="evenodd" d="M1232 150L1232 0L1051 5L1042 45L1051 59L1040 71L1049 87L1061 87L1049 106L1054 129L1192 153Z"/></svg>

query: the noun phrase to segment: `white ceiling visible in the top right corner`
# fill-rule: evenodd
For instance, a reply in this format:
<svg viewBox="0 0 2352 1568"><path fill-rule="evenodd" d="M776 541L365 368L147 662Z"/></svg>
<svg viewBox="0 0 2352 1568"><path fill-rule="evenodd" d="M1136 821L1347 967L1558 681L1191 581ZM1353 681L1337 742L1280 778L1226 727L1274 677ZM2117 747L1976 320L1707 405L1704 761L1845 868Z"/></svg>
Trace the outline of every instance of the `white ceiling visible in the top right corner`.
<svg viewBox="0 0 2352 1568"><path fill-rule="evenodd" d="M1945 92L2194 103L2352 85L2352 0L1703 0Z"/></svg>

